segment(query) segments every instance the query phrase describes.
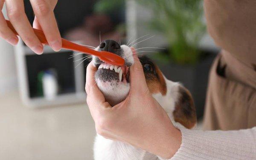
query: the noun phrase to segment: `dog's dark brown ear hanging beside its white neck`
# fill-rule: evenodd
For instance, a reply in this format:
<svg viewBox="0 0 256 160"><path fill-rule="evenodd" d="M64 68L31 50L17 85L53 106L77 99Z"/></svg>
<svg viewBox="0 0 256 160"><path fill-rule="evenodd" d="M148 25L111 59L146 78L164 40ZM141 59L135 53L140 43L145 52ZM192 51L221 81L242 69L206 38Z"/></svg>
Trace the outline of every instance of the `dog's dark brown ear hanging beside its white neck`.
<svg viewBox="0 0 256 160"><path fill-rule="evenodd" d="M191 93L183 86L179 86L178 99L173 111L175 122L179 122L186 128L193 128L196 124L195 105Z"/></svg>

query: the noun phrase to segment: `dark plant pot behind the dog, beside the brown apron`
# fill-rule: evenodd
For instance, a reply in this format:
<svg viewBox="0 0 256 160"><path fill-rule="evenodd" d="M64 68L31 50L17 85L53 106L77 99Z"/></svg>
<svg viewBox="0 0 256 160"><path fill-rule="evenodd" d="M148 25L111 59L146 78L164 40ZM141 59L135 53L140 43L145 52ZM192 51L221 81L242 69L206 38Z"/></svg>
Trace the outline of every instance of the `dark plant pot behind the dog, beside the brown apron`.
<svg viewBox="0 0 256 160"><path fill-rule="evenodd" d="M204 114L209 70L218 51L202 50L201 52L200 61L195 65L179 65L174 62L163 64L157 61L157 65L167 79L179 81L191 92L198 119Z"/></svg>

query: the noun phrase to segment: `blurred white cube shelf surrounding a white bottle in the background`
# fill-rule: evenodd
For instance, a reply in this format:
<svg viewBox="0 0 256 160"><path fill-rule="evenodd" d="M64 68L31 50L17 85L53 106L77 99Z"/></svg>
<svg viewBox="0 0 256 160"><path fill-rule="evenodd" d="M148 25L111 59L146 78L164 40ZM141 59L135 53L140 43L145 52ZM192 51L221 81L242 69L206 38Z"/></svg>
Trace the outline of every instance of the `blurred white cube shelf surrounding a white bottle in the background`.
<svg viewBox="0 0 256 160"><path fill-rule="evenodd" d="M86 67L84 67L84 63L78 65L81 61L76 61L85 55L81 54L70 58L74 53L76 52L67 49L55 52L49 46L44 46L44 54L37 55L29 47L23 45L23 41L20 39L15 47L15 56L20 96L26 106L41 108L86 102L84 91ZM52 100L44 98L40 88L41 81L38 81L38 79L41 80L39 73L45 73L50 69L57 74L59 88L58 94Z"/></svg>

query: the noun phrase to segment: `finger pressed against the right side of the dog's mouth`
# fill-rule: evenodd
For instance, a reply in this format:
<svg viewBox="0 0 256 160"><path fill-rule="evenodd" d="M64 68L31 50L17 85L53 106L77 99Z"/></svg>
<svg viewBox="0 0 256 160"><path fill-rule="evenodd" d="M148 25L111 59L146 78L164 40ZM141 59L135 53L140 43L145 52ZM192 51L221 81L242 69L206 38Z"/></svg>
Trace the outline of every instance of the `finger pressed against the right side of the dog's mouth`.
<svg viewBox="0 0 256 160"><path fill-rule="evenodd" d="M148 88L143 67L140 60L133 49L134 64L130 67L131 92L133 90L145 90Z"/></svg>

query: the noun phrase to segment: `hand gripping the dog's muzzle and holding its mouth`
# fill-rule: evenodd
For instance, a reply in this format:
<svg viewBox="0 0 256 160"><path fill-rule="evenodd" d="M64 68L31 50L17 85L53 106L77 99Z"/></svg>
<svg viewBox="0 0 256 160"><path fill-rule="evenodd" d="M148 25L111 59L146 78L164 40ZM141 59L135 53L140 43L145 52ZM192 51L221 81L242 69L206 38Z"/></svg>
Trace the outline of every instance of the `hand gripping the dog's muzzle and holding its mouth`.
<svg viewBox="0 0 256 160"><path fill-rule="evenodd" d="M123 102L113 107L105 101L94 80L96 67L92 63L88 65L85 90L96 132L105 138L170 158L180 148L181 133L151 96L143 67L137 55L134 56L134 65L130 67L130 92Z"/></svg>

